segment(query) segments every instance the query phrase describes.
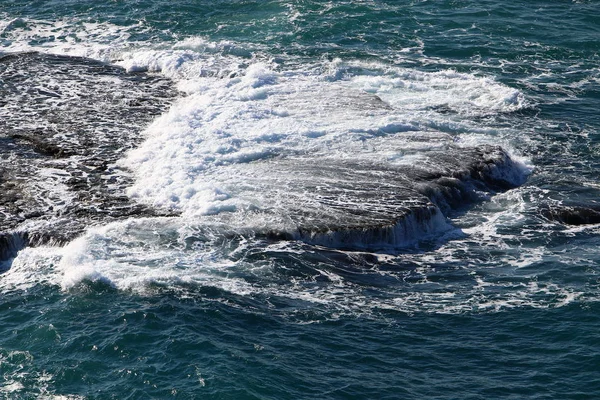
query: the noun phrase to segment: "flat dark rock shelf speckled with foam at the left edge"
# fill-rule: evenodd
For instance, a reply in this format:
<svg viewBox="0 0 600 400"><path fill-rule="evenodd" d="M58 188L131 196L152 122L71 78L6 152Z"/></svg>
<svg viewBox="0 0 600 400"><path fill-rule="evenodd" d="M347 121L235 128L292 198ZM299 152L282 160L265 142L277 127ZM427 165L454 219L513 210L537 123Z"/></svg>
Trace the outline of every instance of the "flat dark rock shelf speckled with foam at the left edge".
<svg viewBox="0 0 600 400"><path fill-rule="evenodd" d="M129 201L115 162L176 95L167 79L85 58L0 57L0 258L100 221L164 214Z"/></svg>

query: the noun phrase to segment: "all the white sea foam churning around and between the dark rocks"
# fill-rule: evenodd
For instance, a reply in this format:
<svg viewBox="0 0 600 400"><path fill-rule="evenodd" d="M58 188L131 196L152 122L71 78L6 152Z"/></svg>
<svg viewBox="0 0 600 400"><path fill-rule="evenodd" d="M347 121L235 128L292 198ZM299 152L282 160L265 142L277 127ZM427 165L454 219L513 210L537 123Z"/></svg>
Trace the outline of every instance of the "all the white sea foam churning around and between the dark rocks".
<svg viewBox="0 0 600 400"><path fill-rule="evenodd" d="M154 45L131 40L133 33L144 29L68 20L23 19L0 25L11 41L4 52L35 50L92 57L129 71L164 74L186 93L146 129L144 143L120 162L135 175L128 192L133 199L177 210L183 217L111 223L88 229L61 249L25 249L2 275L3 288L26 289L44 283L72 290L90 280L134 291L150 285L192 284L244 296L269 294L333 304L350 312L464 312L554 304L550 294L540 300L536 297L540 290L520 284L507 284L503 290L509 294L504 297L482 295L486 284L495 284L483 278L470 288L423 293L419 285L431 284L426 268L421 271L422 283L383 299L365 296L359 285L323 268L321 274L331 284L257 285L240 273L250 267L231 261L222 249L228 235L241 233L251 241L256 232L294 229L285 215L277 219L259 212L276 207L286 189L261 186L260 177L252 181L257 186L249 187L244 173L251 174L252 168L246 167L256 161L318 155L341 162L418 164L425 152L460 145L464 133L478 134L464 139L464 146L490 141L497 130L477 118L528 107L522 93L489 77L452 70L422 72L347 60L286 69L285 64L253 57L247 48L231 42L188 38ZM510 142L510 132L501 135ZM530 170L526 161L515 163L514 171L503 171L506 175L501 177L517 182ZM58 185L44 190L60 191L59 174L46 172ZM293 174L284 178L295 179ZM299 198L298 204L303 206L304 200ZM229 218L220 222L210 218L223 213ZM421 231L439 232L440 227L445 230L448 225L439 215L427 222L430 225L411 225L401 239ZM505 244L494 221L467 233L489 235L492 243ZM186 239L201 234L209 239L190 249ZM535 261L515 259L515 265L522 267ZM398 272L394 278L402 280L403 274ZM578 296L570 288L544 290L562 296L559 305Z"/></svg>

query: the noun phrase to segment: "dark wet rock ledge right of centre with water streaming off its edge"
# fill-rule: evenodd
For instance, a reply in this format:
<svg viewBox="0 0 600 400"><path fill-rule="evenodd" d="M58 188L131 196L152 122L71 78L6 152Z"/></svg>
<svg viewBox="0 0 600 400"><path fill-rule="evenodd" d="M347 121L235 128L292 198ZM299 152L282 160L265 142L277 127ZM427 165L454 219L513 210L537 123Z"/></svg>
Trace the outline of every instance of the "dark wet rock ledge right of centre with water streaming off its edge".
<svg viewBox="0 0 600 400"><path fill-rule="evenodd" d="M231 168L227 175L248 187L236 197L263 193L255 220L279 226L267 237L351 249L402 247L447 230L453 212L525 178L497 146L429 151L414 165L305 156ZM235 226L239 217L231 214L213 219Z"/></svg>

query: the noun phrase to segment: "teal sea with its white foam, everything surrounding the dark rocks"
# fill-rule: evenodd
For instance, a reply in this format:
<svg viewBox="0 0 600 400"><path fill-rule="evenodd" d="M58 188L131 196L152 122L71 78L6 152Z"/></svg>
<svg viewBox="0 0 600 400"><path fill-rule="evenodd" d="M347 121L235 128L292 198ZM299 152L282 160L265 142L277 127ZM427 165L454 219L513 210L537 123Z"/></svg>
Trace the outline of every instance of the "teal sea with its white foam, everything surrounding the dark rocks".
<svg viewBox="0 0 600 400"><path fill-rule="evenodd" d="M100 221L5 264L0 398L600 397L600 225L544 213L600 210L599 7L0 1L0 55L82 56L171 80L179 97L123 165L135 201L181 214ZM393 111L353 117L349 88ZM31 108L23 123L35 124L36 107L14 110ZM500 145L527 179L391 250L229 234L278 223L252 210L286 188L239 178L265 154L420 163L444 140ZM2 168L15 162L0 155ZM83 202L42 183L56 209ZM231 210L242 217L219 219Z"/></svg>

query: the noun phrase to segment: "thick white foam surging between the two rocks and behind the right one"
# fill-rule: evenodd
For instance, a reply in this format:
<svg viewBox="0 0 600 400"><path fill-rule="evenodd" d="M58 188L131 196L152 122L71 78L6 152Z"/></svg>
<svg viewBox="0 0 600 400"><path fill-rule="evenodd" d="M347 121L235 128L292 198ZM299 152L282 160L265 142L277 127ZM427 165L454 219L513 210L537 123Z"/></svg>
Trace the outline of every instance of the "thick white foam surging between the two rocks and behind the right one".
<svg viewBox="0 0 600 400"><path fill-rule="evenodd" d="M171 76L183 70L190 76L180 55L167 52L160 61L160 54L153 52L149 59L141 54L131 65L154 68L164 61L157 70ZM146 141L121 164L137 175L130 196L188 214L247 208L247 199L235 196L243 182L229 175L227 165L318 153L406 163L419 151L452 143L452 136L428 127L446 118L436 107L470 115L526 106L520 93L488 78L452 71L383 71L370 64L361 68L378 68L384 75L340 72L350 67L356 68L336 61L322 76L311 69L281 72L270 63L253 62L234 78L182 80L180 88L189 95L147 129ZM454 123L461 124L460 119ZM508 174L504 178L522 181L527 171L521 166L502 170Z"/></svg>

